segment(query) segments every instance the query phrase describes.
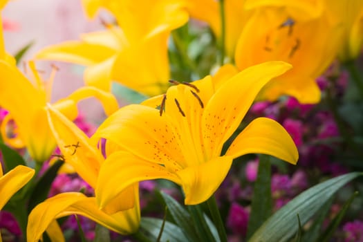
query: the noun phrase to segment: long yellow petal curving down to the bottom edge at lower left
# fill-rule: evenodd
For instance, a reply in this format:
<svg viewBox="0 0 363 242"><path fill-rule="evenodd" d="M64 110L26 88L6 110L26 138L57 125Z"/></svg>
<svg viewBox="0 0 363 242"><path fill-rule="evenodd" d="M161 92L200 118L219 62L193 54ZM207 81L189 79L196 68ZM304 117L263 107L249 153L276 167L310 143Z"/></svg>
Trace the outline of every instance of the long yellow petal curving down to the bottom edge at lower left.
<svg viewBox="0 0 363 242"><path fill-rule="evenodd" d="M136 195L138 196L138 195ZM120 234L129 234L138 229L140 214L138 207L110 216L98 209L95 198L78 192L67 192L39 203L29 214L27 241L37 242L41 234L56 218L71 214L86 216L96 223Z"/></svg>

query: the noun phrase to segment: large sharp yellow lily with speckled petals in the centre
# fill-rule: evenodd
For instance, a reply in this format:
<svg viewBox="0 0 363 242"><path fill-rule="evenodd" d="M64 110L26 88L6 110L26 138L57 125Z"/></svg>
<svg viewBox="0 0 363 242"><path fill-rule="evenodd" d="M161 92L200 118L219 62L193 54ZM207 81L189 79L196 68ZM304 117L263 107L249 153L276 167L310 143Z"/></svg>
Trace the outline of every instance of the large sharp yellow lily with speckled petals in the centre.
<svg viewBox="0 0 363 242"><path fill-rule="evenodd" d="M268 118L252 121L221 156L223 144L260 89L290 67L266 62L231 77L226 66L214 78L171 86L162 101L151 100L159 99L160 110L132 104L113 113L92 139L105 138L106 144L129 154L113 153L117 158L102 165L95 190L100 204L106 205L133 183L157 178L183 187L185 204L202 203L222 183L232 160L246 153L266 153L295 164L298 153L292 138Z"/></svg>

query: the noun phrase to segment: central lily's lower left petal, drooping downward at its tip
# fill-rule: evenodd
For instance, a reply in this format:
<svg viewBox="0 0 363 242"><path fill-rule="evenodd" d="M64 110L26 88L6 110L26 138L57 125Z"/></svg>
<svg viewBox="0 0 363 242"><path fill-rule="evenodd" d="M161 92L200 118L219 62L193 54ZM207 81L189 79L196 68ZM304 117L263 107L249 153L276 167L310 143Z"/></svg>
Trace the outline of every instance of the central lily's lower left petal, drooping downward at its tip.
<svg viewBox="0 0 363 242"><path fill-rule="evenodd" d="M130 185L142 180L158 178L165 178L180 184L178 177L161 165L141 160L125 151L113 153L105 160L100 169L95 189L97 203L102 208Z"/></svg>

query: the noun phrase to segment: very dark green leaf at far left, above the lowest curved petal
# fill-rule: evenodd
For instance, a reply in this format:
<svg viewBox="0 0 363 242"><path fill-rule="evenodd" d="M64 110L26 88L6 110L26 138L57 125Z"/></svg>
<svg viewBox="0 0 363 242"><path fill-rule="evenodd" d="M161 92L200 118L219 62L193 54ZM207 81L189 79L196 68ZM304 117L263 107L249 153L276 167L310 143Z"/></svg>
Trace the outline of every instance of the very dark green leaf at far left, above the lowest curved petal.
<svg viewBox="0 0 363 242"><path fill-rule="evenodd" d="M46 200L50 186L52 185L53 180L57 176L57 172L63 163L64 162L62 160L57 160L51 167L49 167L44 175L39 178L29 198L29 213L36 205Z"/></svg>

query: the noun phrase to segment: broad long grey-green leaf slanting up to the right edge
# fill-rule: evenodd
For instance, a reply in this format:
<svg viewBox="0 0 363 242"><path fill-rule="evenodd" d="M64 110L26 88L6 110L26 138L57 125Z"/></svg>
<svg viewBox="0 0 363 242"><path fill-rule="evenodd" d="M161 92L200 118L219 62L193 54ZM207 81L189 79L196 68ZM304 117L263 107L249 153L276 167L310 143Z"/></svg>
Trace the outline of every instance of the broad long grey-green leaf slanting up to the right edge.
<svg viewBox="0 0 363 242"><path fill-rule="evenodd" d="M320 208L335 192L349 181L362 176L360 172L353 172L326 180L301 193L274 213L253 234L250 242L254 241L287 241L299 228L296 223L296 214L304 225L310 218L319 212Z"/></svg>

